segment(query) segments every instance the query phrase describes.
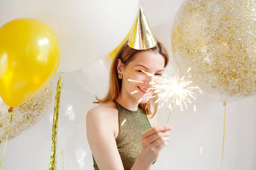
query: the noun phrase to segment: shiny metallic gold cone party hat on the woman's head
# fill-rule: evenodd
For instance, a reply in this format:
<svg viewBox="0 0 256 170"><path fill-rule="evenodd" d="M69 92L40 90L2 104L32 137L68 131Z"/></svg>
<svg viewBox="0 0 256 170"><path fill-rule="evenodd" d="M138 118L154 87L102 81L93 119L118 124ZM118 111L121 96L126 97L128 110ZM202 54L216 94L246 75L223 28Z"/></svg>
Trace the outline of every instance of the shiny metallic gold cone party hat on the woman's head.
<svg viewBox="0 0 256 170"><path fill-rule="evenodd" d="M128 45L137 50L146 50L157 45L157 40L153 35L141 6L134 21Z"/></svg>

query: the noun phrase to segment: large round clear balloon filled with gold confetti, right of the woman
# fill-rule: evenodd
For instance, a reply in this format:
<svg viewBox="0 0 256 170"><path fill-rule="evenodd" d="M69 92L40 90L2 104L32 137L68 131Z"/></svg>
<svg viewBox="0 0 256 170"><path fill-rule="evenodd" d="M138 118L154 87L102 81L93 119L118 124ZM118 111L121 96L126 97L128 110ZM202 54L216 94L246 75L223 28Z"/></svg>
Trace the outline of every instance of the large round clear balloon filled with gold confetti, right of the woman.
<svg viewBox="0 0 256 170"><path fill-rule="evenodd" d="M254 0L185 0L171 39L180 71L204 92L222 102L256 93Z"/></svg>

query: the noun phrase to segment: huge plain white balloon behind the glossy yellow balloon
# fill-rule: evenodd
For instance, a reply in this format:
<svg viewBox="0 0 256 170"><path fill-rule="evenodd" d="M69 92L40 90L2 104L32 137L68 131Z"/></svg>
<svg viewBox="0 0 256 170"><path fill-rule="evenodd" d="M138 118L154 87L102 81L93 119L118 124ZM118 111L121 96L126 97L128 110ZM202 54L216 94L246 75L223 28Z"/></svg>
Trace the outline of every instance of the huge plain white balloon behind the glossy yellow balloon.
<svg viewBox="0 0 256 170"><path fill-rule="evenodd" d="M0 20L32 17L58 37L58 71L75 71L115 49L128 34L139 0L1 0Z"/></svg>

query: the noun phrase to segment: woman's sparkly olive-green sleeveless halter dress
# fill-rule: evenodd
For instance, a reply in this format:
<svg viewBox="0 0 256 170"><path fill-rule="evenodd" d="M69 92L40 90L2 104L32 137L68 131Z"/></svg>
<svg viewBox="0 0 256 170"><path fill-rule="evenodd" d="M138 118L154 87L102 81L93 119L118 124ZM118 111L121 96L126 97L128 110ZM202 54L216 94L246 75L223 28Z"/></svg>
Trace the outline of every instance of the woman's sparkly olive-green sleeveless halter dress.
<svg viewBox="0 0 256 170"><path fill-rule="evenodd" d="M116 138L116 146L124 169L131 170L141 152L141 135L149 130L151 125L142 109L138 108L137 111L130 111L115 100L113 102L119 112L119 134ZM124 122L125 119L126 121ZM99 170L94 157L93 167L94 170Z"/></svg>

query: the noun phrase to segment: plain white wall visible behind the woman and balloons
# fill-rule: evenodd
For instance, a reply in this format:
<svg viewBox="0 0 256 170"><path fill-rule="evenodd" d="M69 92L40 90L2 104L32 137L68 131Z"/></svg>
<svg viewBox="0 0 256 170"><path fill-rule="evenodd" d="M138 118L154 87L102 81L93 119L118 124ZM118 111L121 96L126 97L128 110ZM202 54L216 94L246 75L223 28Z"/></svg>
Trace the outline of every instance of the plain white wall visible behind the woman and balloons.
<svg viewBox="0 0 256 170"><path fill-rule="evenodd" d="M172 21L182 0L140 0L140 3L155 36L169 48ZM93 170L85 117L96 106L92 104L93 89L97 88L101 97L108 84L108 68L99 68L100 64L101 61L96 62L84 72L67 73L63 78L57 153L64 150L65 170ZM84 90L84 82L91 79ZM55 77L54 85L56 82ZM161 152L156 170L221 170L224 106L204 95L198 96L194 103L196 112L189 105L188 110L181 112L175 107L171 113L171 141ZM223 170L256 170L255 103L256 96L227 104ZM1 169L49 169L53 108L54 101L41 122L8 142ZM168 113L164 107L158 110L158 125L166 124ZM0 155L3 148L4 142ZM83 167L79 169L76 164ZM61 155L57 157L57 165L57 170L62 170Z"/></svg>

